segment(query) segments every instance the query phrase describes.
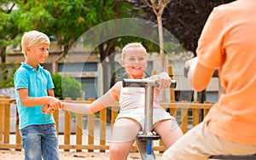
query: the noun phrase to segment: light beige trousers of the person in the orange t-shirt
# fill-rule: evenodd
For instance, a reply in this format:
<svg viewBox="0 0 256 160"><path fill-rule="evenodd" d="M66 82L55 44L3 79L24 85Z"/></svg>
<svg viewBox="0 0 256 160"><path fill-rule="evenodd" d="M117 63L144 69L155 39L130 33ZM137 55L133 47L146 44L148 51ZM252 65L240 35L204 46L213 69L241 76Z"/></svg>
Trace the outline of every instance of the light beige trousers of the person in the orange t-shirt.
<svg viewBox="0 0 256 160"><path fill-rule="evenodd" d="M213 155L252 155L256 145L244 145L224 140L200 123L177 140L164 154L164 160L207 160Z"/></svg>

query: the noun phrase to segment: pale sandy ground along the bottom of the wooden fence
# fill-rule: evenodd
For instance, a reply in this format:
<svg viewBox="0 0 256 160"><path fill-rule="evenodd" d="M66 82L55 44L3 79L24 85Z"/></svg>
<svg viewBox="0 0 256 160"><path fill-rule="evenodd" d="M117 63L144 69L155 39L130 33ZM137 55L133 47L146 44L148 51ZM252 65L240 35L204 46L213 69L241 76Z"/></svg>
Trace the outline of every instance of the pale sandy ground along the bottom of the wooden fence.
<svg viewBox="0 0 256 160"><path fill-rule="evenodd" d="M109 159L108 153L103 152L67 152L60 151L61 160L107 160ZM155 157L160 160L161 154L156 153ZM9 150L0 150L0 160L22 160L24 159L23 151L9 151ZM127 160L141 160L140 153L134 152L130 153Z"/></svg>

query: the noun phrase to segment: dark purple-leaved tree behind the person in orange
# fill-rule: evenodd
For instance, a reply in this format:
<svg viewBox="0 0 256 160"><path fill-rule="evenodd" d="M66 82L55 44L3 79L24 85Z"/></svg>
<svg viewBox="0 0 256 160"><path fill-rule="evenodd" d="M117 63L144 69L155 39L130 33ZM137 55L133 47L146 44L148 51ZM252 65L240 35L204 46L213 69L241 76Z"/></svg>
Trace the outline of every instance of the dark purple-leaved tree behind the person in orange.
<svg viewBox="0 0 256 160"><path fill-rule="evenodd" d="M163 27L177 38L183 49L191 51L196 56L197 42L201 35L203 26L211 13L213 7L223 3L230 3L234 0L172 0L168 3L165 12L162 14ZM142 9L145 14L142 18L155 21L152 9L145 7L141 1L129 1L135 5L135 9ZM165 36L165 35L164 35ZM198 93L199 101L206 100L206 91Z"/></svg>

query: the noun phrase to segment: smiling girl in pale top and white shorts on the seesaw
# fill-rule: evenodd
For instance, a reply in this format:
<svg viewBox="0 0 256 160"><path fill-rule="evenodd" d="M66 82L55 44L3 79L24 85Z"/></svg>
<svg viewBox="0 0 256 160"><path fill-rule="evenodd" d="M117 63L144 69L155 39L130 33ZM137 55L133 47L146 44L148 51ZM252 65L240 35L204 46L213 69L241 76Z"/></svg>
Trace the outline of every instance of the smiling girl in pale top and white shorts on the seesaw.
<svg viewBox="0 0 256 160"><path fill-rule="evenodd" d="M127 44L122 50L120 64L125 68L129 78L142 79L148 64L146 49L141 43ZM171 84L171 78L166 72L149 78L156 78L160 84L158 89L154 89L153 127L154 131L160 134L162 143L167 148L172 146L183 135L175 118L170 116L158 102L160 89L168 89ZM110 159L125 160L137 134L144 127L144 98L144 88L123 88L122 82L118 82L92 104L84 105L65 102L63 104L64 110L92 114L119 100L120 111L113 124L109 156Z"/></svg>

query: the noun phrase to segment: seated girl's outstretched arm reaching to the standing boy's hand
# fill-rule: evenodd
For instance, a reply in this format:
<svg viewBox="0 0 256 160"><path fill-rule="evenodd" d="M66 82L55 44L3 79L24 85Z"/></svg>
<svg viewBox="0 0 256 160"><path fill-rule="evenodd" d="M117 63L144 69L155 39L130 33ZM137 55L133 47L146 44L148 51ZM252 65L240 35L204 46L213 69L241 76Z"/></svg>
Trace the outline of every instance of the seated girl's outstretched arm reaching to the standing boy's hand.
<svg viewBox="0 0 256 160"><path fill-rule="evenodd" d="M121 87L122 82L115 83L106 94L103 94L99 99L93 101L91 104L75 104L63 102L63 109L81 114L93 114L96 111L100 111L103 108L113 104L113 102L119 100Z"/></svg>

